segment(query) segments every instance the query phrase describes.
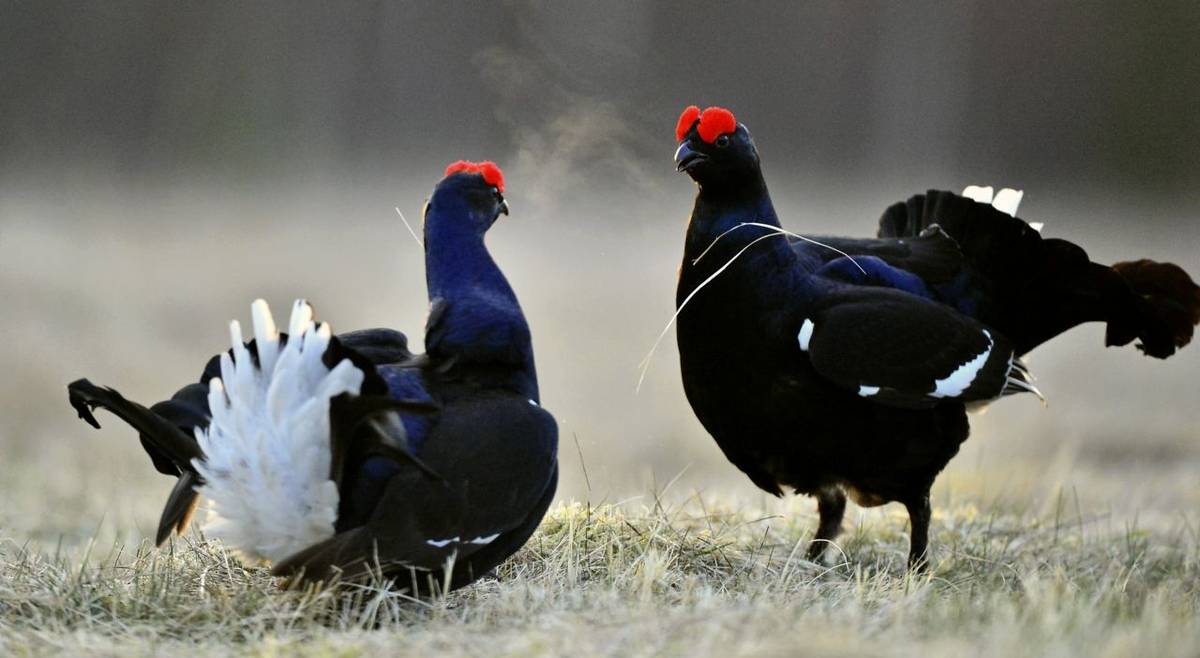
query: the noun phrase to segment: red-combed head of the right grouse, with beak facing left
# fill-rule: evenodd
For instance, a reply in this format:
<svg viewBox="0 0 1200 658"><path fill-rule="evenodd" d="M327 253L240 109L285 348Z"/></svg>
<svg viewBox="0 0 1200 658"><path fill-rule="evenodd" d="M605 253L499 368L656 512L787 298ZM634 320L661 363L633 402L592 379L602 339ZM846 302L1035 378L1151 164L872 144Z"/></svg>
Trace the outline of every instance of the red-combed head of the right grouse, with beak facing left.
<svg viewBox="0 0 1200 658"><path fill-rule="evenodd" d="M750 131L724 107L690 106L676 124L676 169L704 186L760 178L758 150Z"/></svg>

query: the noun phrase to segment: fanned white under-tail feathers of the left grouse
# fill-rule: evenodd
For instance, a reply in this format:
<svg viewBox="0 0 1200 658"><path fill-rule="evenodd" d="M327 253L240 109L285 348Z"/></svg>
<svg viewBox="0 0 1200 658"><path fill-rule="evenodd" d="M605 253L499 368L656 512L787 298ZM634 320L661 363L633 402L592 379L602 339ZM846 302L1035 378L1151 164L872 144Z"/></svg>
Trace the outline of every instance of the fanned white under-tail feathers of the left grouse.
<svg viewBox="0 0 1200 658"><path fill-rule="evenodd" d="M234 358L221 355L209 384L212 420L196 437L194 466L209 501L205 531L252 560L278 561L334 536L337 487L329 479L329 402L358 395L362 371L349 359L325 366L332 335L302 299L292 309L288 341L262 299L251 305L258 363L229 324Z"/></svg>

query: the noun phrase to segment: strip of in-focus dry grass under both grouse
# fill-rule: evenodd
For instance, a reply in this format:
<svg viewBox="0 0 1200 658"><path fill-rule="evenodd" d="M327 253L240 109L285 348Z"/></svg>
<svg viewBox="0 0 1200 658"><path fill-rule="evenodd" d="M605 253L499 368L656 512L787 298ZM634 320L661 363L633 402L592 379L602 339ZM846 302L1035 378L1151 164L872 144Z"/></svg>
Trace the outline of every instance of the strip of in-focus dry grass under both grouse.
<svg viewBox="0 0 1200 658"><path fill-rule="evenodd" d="M0 543L0 653L140 656L1196 656L1194 519L1111 527L956 504L934 568L902 514L803 558L811 514L695 495L559 504L497 578L433 600L374 582L281 591L192 534L158 550Z"/></svg>

